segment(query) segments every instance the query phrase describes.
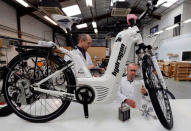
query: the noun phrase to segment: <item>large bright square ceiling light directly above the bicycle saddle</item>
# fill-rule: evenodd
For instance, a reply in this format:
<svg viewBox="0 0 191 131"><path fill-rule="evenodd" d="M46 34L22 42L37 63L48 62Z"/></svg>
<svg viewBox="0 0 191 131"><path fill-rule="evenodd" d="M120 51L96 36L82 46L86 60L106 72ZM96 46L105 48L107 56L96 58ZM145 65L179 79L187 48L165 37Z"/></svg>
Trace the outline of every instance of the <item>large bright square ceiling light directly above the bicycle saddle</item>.
<svg viewBox="0 0 191 131"><path fill-rule="evenodd" d="M62 10L67 16L74 16L74 15L81 14L81 11L78 5L68 6L68 7L62 8Z"/></svg>

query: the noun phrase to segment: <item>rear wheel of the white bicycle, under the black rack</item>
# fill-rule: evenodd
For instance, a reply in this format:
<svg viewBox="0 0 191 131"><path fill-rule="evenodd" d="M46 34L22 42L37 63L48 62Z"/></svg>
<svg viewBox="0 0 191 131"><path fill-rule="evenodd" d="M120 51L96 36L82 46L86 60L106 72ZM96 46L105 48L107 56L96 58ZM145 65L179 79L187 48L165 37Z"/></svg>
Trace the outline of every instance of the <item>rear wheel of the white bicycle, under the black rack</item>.
<svg viewBox="0 0 191 131"><path fill-rule="evenodd" d="M33 91L30 85L60 69L65 63L50 52L34 50L13 58L7 66L3 92L14 113L30 122L47 122L61 115L68 108L70 100ZM56 78L51 78L40 87L74 93L76 83L70 68L63 71L63 78L62 86L55 85Z"/></svg>

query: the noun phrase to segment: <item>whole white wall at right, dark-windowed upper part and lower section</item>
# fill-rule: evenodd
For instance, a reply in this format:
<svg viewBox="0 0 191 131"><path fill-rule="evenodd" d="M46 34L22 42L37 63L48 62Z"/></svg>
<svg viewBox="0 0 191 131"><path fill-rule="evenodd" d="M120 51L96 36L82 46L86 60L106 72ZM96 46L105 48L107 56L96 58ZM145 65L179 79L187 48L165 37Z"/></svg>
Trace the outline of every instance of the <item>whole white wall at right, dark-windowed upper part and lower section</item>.
<svg viewBox="0 0 191 131"><path fill-rule="evenodd" d="M159 30L174 24L174 17L181 14L181 21L191 18L191 2L181 3L179 6L161 17L161 20L154 20L143 29L145 43L158 45L156 51L159 60L182 61L182 52L191 51L191 23L182 24L181 35L173 37L173 30L164 31L158 36L148 38L150 28L159 25ZM167 54L178 54L178 57L169 57Z"/></svg>

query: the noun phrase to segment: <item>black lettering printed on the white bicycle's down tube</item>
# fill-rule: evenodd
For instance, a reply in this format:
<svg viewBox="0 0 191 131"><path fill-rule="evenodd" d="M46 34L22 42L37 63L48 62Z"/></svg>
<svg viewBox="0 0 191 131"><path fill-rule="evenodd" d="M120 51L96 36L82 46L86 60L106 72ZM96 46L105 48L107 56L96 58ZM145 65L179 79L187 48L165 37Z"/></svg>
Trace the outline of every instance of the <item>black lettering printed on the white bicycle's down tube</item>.
<svg viewBox="0 0 191 131"><path fill-rule="evenodd" d="M119 65L120 65L121 59L123 58L123 56L124 56L124 54L126 52L126 48L127 47L122 43L121 47L120 47L119 55L117 57L117 61L115 62L115 69L112 72L112 74L114 76L116 76L119 73Z"/></svg>

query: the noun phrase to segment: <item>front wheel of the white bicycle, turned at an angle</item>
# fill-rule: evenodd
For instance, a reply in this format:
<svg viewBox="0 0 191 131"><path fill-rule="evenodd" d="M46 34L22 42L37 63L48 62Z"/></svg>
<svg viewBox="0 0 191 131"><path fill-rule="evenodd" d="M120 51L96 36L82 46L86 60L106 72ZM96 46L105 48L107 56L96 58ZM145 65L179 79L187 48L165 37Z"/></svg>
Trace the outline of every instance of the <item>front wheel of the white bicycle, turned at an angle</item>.
<svg viewBox="0 0 191 131"><path fill-rule="evenodd" d="M173 115L166 90L162 87L149 55L143 57L143 79L155 113L166 129L173 127Z"/></svg>

